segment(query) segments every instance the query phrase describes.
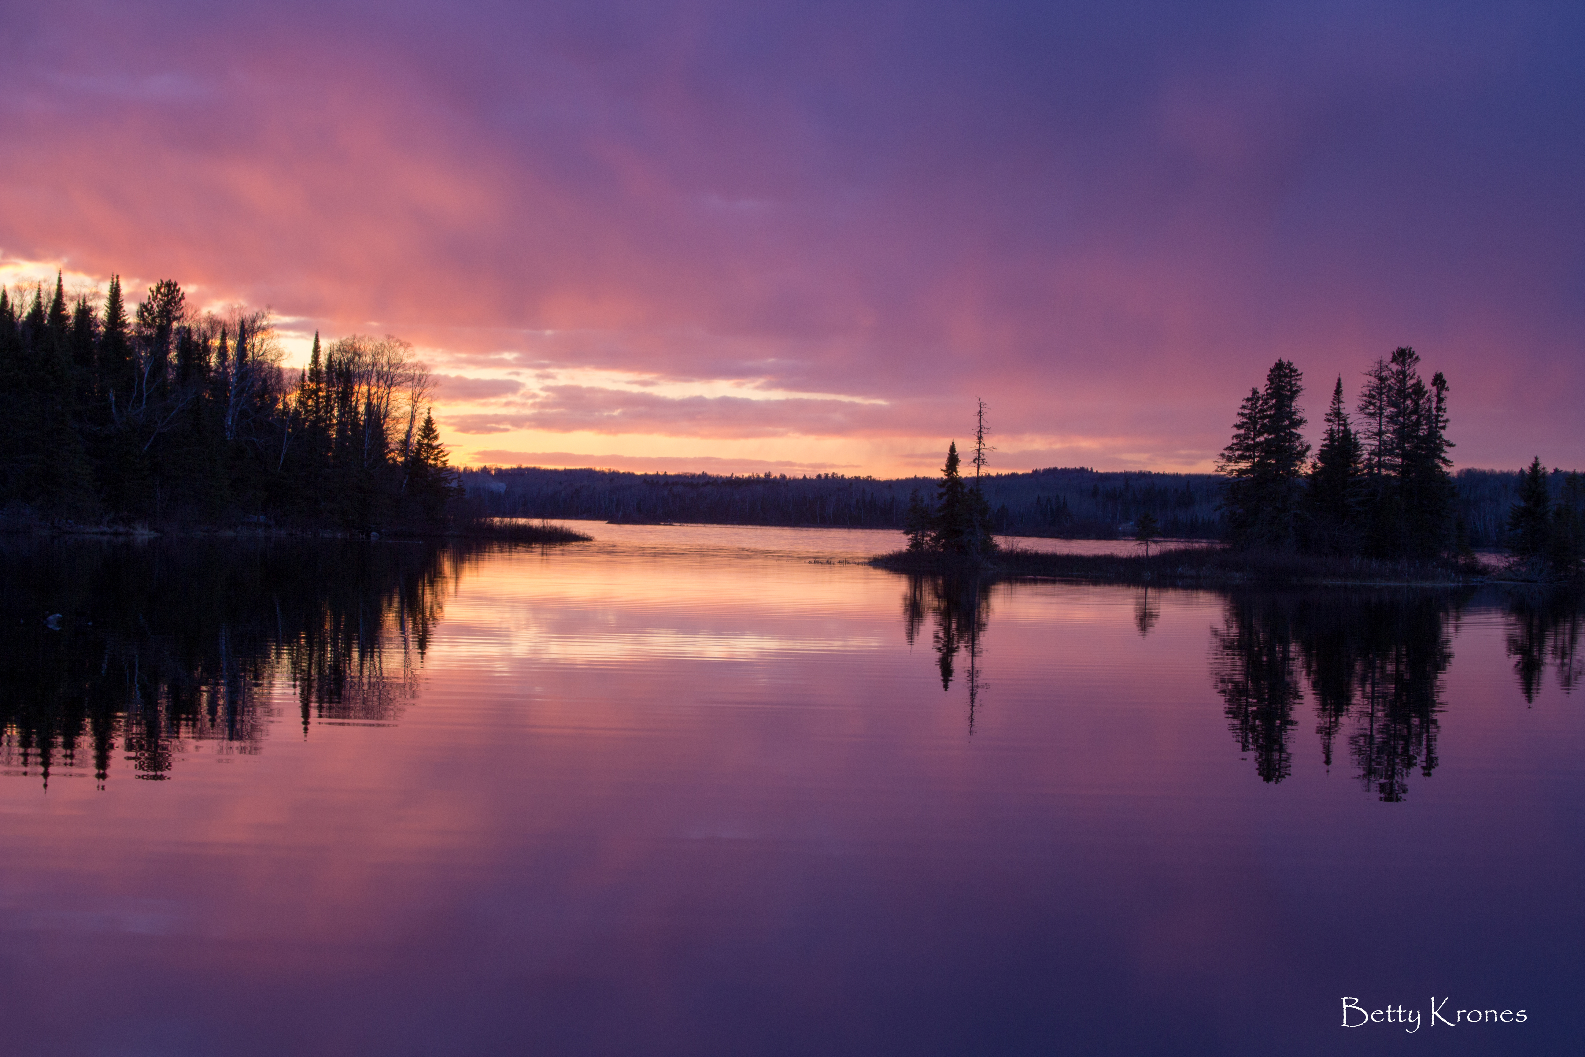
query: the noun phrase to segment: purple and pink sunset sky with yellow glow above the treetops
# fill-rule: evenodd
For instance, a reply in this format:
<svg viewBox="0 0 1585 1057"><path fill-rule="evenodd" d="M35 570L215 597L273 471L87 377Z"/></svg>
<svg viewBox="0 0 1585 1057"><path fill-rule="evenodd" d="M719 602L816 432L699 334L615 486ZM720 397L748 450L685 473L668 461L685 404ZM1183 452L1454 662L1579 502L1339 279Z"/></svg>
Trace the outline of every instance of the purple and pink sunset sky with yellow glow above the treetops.
<svg viewBox="0 0 1585 1057"><path fill-rule="evenodd" d="M0 279L393 333L461 461L1205 469L1411 344L1585 466L1585 8L5 2ZM1312 425L1314 431L1314 425Z"/></svg>

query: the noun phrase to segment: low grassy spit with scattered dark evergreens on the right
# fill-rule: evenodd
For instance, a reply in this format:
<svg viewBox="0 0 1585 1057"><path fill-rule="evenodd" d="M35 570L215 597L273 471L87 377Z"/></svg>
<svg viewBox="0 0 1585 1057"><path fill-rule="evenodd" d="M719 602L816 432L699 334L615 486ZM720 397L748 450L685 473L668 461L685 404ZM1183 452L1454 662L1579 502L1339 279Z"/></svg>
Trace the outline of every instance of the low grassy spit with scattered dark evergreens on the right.
<svg viewBox="0 0 1585 1057"><path fill-rule="evenodd" d="M905 550L872 564L897 572L1071 577L1113 582L1285 585L1460 585L1585 582L1585 475L1550 475L1537 456L1518 474L1504 512L1511 559L1491 577L1474 556L1469 521L1447 452L1452 387L1438 371L1420 377L1420 357L1400 347L1365 372L1354 428L1339 376L1316 456L1303 429L1303 374L1287 360L1251 388L1233 439L1217 460L1225 483L1217 509L1227 548L1151 555L1163 536L1144 510L1132 529L1138 556L1002 553L984 494L984 401L975 425L973 479L959 469L957 444L935 494L910 494Z"/></svg>

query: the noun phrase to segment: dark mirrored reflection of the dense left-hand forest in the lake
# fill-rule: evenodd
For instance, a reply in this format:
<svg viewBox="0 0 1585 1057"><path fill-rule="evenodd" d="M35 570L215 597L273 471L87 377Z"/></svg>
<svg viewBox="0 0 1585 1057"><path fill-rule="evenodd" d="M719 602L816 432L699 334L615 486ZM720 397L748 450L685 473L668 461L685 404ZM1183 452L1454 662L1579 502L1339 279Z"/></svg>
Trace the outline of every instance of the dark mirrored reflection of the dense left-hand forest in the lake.
<svg viewBox="0 0 1585 1057"><path fill-rule="evenodd" d="M395 719L468 555L349 540L8 540L0 545L0 767L117 753L168 778L208 745L257 753L287 680L303 732ZM59 615L59 620L55 618Z"/></svg>

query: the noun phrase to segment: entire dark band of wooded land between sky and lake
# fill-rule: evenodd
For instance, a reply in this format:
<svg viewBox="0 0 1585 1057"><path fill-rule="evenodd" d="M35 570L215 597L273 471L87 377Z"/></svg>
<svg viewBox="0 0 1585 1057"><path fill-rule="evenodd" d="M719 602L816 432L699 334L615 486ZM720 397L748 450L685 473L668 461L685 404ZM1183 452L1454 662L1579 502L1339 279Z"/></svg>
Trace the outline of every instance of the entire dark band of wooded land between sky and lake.
<svg viewBox="0 0 1585 1057"><path fill-rule="evenodd" d="M1577 580L1585 569L1585 479L1547 474L1539 458L1517 474L1452 474L1450 387L1439 372L1422 380L1412 349L1365 372L1352 417L1338 379L1314 458L1303 376L1279 360L1239 407L1219 474L992 474L983 403L972 479L458 472L430 409L430 374L396 338L322 347L315 334L309 364L293 372L281 368L269 312L197 312L173 280L136 306L119 277L103 298L68 300L59 276L52 292L16 293L0 290L0 385L13 396L0 418L0 531L555 544L586 537L545 518L591 518L892 528L911 550L981 556L997 534L1225 540L1290 555L1173 566L1198 578L1396 582L1393 563L1409 563L1409 578L1457 582L1474 575L1461 558L1472 547L1507 547L1514 578ZM1308 569L1285 569L1293 555ZM1357 561L1342 570L1331 561L1342 558ZM1146 575L1121 558L1006 561L1043 570L1030 575Z"/></svg>

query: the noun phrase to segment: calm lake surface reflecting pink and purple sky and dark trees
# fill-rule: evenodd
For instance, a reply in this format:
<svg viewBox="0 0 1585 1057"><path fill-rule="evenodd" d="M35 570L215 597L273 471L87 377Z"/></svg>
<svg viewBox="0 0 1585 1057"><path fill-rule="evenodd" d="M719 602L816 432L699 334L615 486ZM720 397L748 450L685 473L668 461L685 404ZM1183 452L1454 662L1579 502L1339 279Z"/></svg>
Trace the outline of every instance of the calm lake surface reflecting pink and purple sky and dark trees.
<svg viewBox="0 0 1585 1057"><path fill-rule="evenodd" d="M1574 1052L1577 601L591 529L0 545L5 1051Z"/></svg>

